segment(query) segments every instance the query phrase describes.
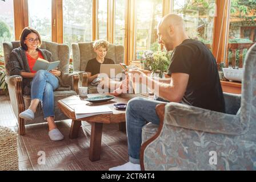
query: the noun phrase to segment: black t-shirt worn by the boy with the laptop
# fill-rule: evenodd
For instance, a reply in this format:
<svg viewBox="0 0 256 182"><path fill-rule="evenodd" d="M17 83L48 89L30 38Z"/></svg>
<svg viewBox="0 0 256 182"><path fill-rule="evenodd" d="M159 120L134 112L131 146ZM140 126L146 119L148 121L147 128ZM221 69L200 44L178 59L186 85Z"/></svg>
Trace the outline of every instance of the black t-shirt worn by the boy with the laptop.
<svg viewBox="0 0 256 182"><path fill-rule="evenodd" d="M113 60L105 58L102 64L115 64L115 63ZM97 61L96 58L94 58L88 61L85 71L90 72L91 76L94 76L99 73L100 69L101 69L101 63L99 63L99 61Z"/></svg>

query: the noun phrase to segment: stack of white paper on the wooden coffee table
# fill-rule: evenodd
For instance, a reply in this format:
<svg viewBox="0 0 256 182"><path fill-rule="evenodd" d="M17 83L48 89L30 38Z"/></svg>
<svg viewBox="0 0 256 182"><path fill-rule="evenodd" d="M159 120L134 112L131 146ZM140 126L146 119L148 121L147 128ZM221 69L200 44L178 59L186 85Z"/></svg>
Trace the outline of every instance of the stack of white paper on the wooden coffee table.
<svg viewBox="0 0 256 182"><path fill-rule="evenodd" d="M87 106L85 104L83 105L75 105L75 118L85 118L92 115L98 115L98 114L111 114L113 111L108 106Z"/></svg>

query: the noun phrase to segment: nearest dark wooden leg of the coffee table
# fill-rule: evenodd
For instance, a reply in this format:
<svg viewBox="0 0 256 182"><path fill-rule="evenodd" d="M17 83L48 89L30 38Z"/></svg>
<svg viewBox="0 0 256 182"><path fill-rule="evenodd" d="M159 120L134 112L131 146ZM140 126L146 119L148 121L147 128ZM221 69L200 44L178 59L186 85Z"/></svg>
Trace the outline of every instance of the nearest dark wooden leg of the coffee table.
<svg viewBox="0 0 256 182"><path fill-rule="evenodd" d="M91 161L101 159L101 137L103 123L91 123L91 140L89 159Z"/></svg>

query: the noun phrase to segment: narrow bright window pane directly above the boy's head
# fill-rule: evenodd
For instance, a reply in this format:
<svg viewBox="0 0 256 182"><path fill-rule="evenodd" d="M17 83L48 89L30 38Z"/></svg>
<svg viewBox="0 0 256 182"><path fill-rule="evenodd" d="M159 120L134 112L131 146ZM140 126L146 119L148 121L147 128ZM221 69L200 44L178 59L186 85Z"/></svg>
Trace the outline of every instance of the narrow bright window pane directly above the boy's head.
<svg viewBox="0 0 256 182"><path fill-rule="evenodd" d="M107 40L107 0L98 1L98 39Z"/></svg>

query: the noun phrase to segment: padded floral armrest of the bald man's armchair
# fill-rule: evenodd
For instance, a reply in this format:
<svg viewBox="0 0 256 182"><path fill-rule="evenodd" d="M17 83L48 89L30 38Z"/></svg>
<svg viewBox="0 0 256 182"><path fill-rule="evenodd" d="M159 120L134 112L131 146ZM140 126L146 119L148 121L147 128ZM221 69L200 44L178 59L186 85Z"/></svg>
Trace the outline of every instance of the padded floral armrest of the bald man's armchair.
<svg viewBox="0 0 256 182"><path fill-rule="evenodd" d="M237 115L219 113L175 102L166 105L164 122L166 125L185 129L226 135L241 135L247 129L246 124L240 122Z"/></svg>

